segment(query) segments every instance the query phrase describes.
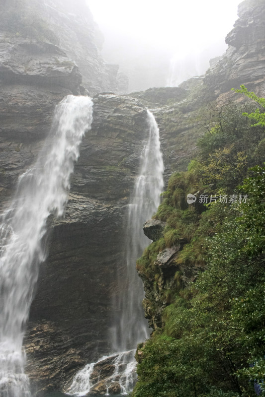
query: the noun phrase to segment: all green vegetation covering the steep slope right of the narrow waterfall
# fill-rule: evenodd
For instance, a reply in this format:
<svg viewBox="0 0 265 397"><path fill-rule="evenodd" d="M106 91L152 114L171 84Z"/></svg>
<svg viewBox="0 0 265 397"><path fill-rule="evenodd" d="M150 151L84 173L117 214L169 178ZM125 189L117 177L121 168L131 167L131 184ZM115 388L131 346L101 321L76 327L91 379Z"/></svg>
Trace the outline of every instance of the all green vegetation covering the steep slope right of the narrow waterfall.
<svg viewBox="0 0 265 397"><path fill-rule="evenodd" d="M167 222L164 236L137 262L142 278L153 282L153 299L149 294L144 306L155 319L157 255L184 242L172 286L164 289L162 327L138 351L134 397L255 396L254 385L263 393L265 100L239 91L259 109L217 109L217 123L199 140L188 171L170 178L155 215ZM188 193L195 203L187 204ZM185 285L185 266L204 271Z"/></svg>

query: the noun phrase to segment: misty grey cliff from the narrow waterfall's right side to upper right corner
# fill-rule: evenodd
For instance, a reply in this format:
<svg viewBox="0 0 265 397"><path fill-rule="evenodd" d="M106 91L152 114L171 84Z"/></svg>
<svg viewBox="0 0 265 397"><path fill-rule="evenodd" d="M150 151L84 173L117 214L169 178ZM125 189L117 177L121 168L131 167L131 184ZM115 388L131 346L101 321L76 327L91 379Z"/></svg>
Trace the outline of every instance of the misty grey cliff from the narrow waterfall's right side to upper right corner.
<svg viewBox="0 0 265 397"><path fill-rule="evenodd" d="M177 88L131 94L155 115L166 181L171 173L187 167L198 137L213 127L218 109L230 100L246 101L246 97L231 88L245 84L250 91L265 96L265 3L245 0L238 7L238 15L234 29L226 37L226 53L217 63L213 60L205 76L191 78Z"/></svg>

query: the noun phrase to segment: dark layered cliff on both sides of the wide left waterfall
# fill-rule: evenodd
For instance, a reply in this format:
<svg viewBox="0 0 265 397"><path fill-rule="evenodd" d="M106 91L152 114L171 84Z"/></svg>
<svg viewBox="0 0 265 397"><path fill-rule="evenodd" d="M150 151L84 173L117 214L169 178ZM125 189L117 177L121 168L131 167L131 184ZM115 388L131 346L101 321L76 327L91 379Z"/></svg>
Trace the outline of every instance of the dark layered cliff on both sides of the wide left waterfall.
<svg viewBox="0 0 265 397"><path fill-rule="evenodd" d="M20 81L5 81L1 90L1 206L34 162L55 104L71 93ZM50 255L40 269L25 340L26 371L40 395L42 389L62 390L110 348L111 299L124 265L124 213L148 125L145 107L134 98L97 95L93 103L65 217L51 224Z"/></svg>

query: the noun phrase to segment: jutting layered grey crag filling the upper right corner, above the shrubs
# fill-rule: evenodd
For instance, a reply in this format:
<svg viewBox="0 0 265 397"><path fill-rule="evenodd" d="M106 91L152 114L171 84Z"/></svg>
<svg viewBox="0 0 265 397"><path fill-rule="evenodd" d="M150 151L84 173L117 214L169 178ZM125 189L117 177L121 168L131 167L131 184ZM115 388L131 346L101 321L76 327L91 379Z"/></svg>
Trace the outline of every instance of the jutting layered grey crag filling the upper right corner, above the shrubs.
<svg viewBox="0 0 265 397"><path fill-rule="evenodd" d="M226 36L226 54L205 76L214 88L218 102L232 99L230 90L245 84L258 95L265 95L265 4L245 0L238 6L239 19Z"/></svg>

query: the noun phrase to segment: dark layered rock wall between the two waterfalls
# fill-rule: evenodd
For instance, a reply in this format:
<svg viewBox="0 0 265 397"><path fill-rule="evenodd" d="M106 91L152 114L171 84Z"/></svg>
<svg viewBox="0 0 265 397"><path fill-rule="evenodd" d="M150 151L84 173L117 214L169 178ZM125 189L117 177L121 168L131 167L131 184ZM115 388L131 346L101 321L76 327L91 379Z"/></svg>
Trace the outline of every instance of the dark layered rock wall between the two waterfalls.
<svg viewBox="0 0 265 397"><path fill-rule="evenodd" d="M111 347L123 219L148 133L146 116L135 99L94 98L92 129L82 143L65 217L53 222L50 255L31 306L25 347L37 391L47 385L62 390Z"/></svg>

